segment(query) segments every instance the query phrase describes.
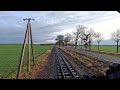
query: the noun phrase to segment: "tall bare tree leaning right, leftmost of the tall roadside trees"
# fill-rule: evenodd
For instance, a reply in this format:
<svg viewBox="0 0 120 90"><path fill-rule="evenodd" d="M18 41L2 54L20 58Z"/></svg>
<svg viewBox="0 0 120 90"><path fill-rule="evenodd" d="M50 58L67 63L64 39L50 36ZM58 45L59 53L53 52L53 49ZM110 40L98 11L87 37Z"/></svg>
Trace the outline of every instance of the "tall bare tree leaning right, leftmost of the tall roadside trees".
<svg viewBox="0 0 120 90"><path fill-rule="evenodd" d="M87 28L87 27L85 27L84 25L78 25L77 26L77 31L74 32L74 35L75 35L75 48L77 48L77 42L78 42L79 36L82 33L82 31L85 30L85 28Z"/></svg>

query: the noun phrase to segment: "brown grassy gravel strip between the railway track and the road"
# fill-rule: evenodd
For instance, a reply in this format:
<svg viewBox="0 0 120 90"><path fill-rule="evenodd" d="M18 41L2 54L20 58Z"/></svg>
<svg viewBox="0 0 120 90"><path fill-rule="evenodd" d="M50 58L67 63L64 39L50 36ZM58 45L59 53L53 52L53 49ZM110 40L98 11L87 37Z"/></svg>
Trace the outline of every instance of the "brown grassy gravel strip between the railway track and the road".
<svg viewBox="0 0 120 90"><path fill-rule="evenodd" d="M75 53L74 49L72 48L62 47L61 50L82 78L84 76L103 77L106 75L106 70L109 69L109 66L113 64L111 62L100 61L95 58L86 57L83 54Z"/></svg>

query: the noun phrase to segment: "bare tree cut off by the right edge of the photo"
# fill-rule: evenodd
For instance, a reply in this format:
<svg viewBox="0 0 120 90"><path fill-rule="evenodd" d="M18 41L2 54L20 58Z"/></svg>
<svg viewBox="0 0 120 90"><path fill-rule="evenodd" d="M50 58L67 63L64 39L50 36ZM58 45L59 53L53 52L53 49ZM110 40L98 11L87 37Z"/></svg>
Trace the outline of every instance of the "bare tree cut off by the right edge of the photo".
<svg viewBox="0 0 120 90"><path fill-rule="evenodd" d="M120 29L111 33L111 39L117 42L117 53L118 53L118 43L120 41Z"/></svg>

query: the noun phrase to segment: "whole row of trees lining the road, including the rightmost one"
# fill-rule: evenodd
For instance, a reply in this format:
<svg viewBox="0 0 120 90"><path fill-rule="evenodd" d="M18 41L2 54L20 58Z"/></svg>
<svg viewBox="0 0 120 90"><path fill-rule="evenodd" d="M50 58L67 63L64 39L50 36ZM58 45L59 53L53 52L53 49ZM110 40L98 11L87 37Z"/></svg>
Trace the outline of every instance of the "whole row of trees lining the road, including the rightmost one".
<svg viewBox="0 0 120 90"><path fill-rule="evenodd" d="M88 29L88 30L86 30ZM117 53L118 53L118 46L120 41L120 30L116 30L111 33L111 39L116 42L117 46ZM91 50L91 44L94 40L97 41L98 51L100 42L103 40L103 36L99 32L95 32L93 28L88 28L84 25L78 25L76 27L76 31L73 34L65 34L65 35L57 35L55 39L57 45L59 46L75 46L77 48L78 41L80 41L81 49L83 46L89 50Z"/></svg>

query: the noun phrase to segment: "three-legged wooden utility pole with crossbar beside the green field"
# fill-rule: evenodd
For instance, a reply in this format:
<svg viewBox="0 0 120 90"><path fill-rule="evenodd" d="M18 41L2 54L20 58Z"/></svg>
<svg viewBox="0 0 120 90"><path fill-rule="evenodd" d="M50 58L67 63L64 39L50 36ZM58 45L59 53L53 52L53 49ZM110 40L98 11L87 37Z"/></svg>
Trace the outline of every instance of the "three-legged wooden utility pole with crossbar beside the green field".
<svg viewBox="0 0 120 90"><path fill-rule="evenodd" d="M18 67L18 73L17 73L17 79L19 79L20 77L20 72L21 72L21 68L22 68L22 63L23 63L23 57L24 57L24 52L25 52L25 47L26 47L26 37L28 35L28 71L30 71L30 38L31 38L31 46L32 46L32 55L33 55L33 62L34 62L34 54L33 54L33 42L32 42L32 32L31 32L31 24L30 24L30 20L34 20L31 18L26 18L23 19L28 20L28 24L27 24L27 29L26 29L26 33L25 33L25 38L24 38L24 43L23 43L23 48L22 48L22 53L21 53L21 57L20 57L20 63L19 63L19 67ZM35 62L33 63L35 65Z"/></svg>

